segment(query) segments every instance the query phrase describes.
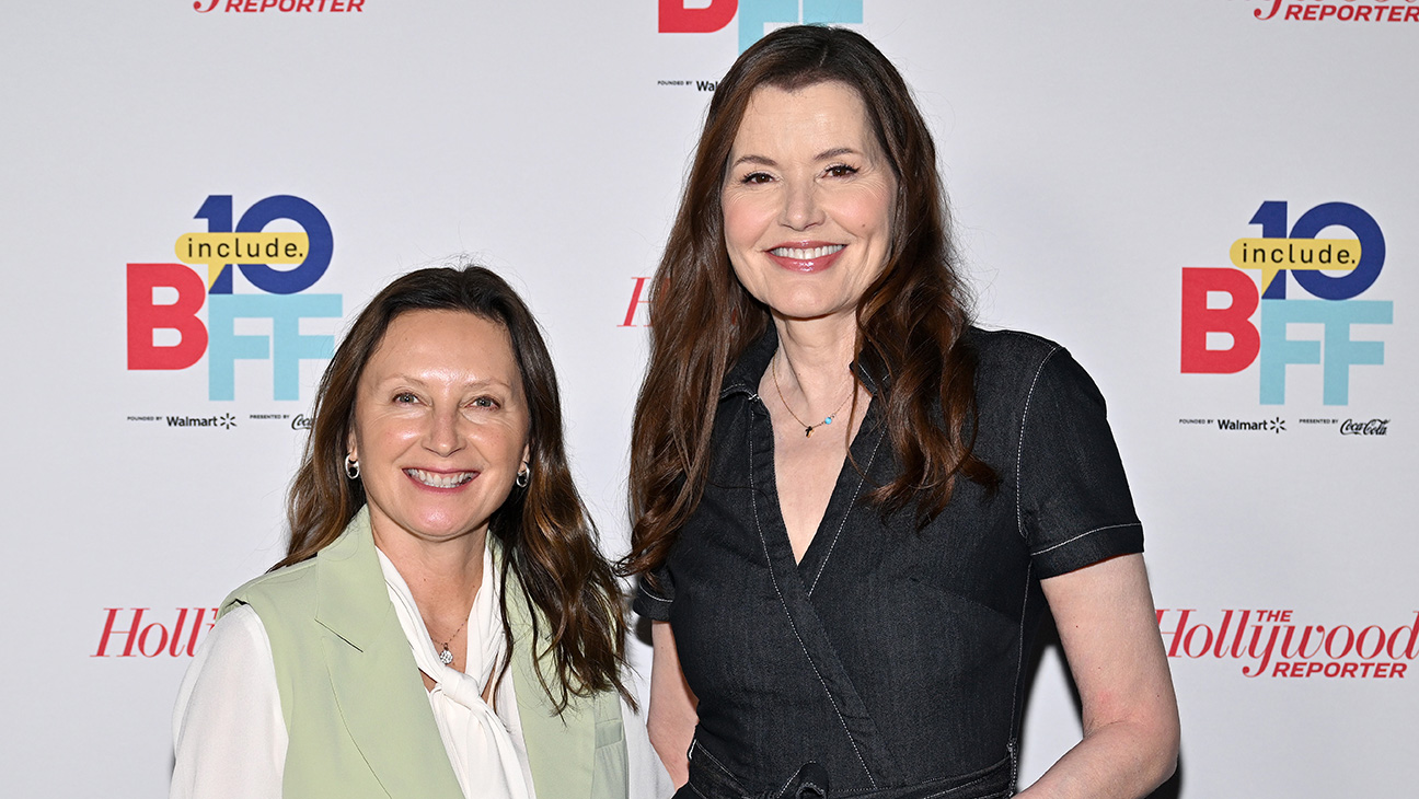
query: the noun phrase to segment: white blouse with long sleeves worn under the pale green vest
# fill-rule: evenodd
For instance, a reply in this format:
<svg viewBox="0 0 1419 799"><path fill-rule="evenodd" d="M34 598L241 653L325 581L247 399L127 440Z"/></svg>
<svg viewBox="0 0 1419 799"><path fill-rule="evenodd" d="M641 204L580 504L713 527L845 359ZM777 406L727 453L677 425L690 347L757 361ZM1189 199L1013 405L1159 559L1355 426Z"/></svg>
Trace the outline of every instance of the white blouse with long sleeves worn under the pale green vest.
<svg viewBox="0 0 1419 799"><path fill-rule="evenodd" d="M413 595L383 552L389 599L420 671L436 685L429 704L464 796L535 799L512 678L498 684L495 710L482 701L504 646L497 569L485 551L484 579L468 613L467 673L444 666ZM490 588L491 586L491 588ZM646 725L622 702L631 799L660 799L674 786L650 746ZM193 656L173 712L176 764L170 799L271 799L281 796L287 732L271 640L255 610L234 607Z"/></svg>

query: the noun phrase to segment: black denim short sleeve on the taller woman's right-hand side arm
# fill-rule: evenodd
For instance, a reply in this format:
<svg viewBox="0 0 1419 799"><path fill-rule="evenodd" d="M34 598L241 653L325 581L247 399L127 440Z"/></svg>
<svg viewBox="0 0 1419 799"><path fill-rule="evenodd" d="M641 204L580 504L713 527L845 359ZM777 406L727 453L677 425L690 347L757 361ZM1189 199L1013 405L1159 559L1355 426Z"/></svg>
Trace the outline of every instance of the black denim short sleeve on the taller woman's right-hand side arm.
<svg viewBox="0 0 1419 799"><path fill-rule="evenodd" d="M1016 487L1020 535L1042 579L1142 552L1104 397L1063 348L1044 358L1029 387Z"/></svg>

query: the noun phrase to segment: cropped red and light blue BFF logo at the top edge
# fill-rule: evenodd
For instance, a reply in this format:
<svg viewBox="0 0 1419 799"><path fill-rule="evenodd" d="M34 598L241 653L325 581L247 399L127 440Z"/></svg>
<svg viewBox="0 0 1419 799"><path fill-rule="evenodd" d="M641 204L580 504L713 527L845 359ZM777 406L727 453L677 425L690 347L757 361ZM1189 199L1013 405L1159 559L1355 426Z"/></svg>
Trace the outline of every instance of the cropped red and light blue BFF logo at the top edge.
<svg viewBox="0 0 1419 799"><path fill-rule="evenodd" d="M744 53L771 24L861 24L863 0L660 0L660 33L715 33L735 14Z"/></svg>

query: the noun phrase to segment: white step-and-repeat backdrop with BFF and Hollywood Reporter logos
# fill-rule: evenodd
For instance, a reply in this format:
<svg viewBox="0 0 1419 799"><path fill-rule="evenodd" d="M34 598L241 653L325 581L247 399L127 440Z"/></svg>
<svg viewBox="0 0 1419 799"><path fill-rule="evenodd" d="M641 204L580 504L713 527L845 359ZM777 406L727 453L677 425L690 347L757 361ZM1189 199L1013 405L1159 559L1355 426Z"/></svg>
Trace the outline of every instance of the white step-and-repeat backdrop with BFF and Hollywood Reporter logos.
<svg viewBox="0 0 1419 799"><path fill-rule="evenodd" d="M524 292L623 553L647 278L715 82L796 21L898 64L982 322L1108 397L1182 710L1159 796L1413 795L1415 0L7 4L0 793L165 793L314 385L412 268ZM1047 647L1022 783L1078 734Z"/></svg>

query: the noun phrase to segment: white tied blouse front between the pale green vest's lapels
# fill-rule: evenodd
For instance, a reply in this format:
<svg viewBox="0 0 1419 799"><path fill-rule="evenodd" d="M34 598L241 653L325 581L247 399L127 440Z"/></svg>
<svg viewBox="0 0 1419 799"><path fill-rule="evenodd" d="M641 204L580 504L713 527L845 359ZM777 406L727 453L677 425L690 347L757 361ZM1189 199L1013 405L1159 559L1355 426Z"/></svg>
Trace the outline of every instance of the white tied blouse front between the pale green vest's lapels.
<svg viewBox="0 0 1419 799"><path fill-rule="evenodd" d="M438 660L440 651L434 649L409 585L383 552L379 553L379 565L385 571L385 585L394 603L394 615L414 651L414 664L434 681L429 704L463 795L532 799L532 778L524 772L526 752L518 751L519 746L502 720L482 701L482 688L494 667L501 664L507 649L497 602L498 573L492 566L491 549L482 551L482 585L468 613L464 671ZM511 683L511 674L502 681Z"/></svg>

